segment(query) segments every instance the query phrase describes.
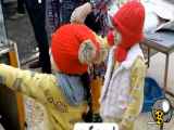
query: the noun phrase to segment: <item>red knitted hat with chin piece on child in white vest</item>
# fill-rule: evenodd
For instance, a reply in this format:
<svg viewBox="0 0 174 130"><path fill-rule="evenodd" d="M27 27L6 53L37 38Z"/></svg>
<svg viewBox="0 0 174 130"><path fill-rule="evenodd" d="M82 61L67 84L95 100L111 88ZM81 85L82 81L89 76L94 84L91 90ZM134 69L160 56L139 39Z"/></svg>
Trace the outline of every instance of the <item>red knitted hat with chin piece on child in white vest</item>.
<svg viewBox="0 0 174 130"><path fill-rule="evenodd" d="M142 40L145 22L145 8L140 2L130 1L125 3L112 17L114 27L121 32L122 41L115 50L115 58L123 62L127 51Z"/></svg>

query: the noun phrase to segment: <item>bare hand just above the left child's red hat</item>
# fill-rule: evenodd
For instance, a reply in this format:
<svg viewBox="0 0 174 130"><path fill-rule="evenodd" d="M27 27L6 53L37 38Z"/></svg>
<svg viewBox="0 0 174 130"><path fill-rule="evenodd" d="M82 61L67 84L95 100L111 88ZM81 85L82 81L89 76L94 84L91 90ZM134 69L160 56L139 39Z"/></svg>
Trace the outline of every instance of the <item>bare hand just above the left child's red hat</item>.
<svg viewBox="0 0 174 130"><path fill-rule="evenodd" d="M90 12L91 5L89 2L76 8L71 15L71 23L83 24Z"/></svg>

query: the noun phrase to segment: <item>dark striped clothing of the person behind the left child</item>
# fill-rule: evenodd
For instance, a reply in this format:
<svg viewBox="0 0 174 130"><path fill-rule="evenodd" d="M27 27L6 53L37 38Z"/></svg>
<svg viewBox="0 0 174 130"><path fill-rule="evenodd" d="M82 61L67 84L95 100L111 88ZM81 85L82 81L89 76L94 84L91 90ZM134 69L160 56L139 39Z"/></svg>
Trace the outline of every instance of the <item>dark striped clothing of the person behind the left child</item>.
<svg viewBox="0 0 174 130"><path fill-rule="evenodd" d="M90 2L94 6L96 21L102 23L102 34L104 34L108 23L108 13L102 6L108 6L113 0L47 0L47 22L50 31L53 32L60 25L69 23L73 10L85 2Z"/></svg>

